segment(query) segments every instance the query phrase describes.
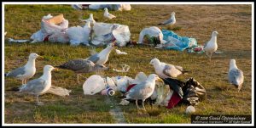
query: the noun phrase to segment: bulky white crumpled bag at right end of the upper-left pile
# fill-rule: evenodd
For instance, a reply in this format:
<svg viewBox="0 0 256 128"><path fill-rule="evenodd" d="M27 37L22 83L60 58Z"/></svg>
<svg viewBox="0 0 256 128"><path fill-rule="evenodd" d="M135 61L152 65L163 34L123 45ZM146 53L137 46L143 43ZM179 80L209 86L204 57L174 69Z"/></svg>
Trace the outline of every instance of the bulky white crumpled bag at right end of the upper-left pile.
<svg viewBox="0 0 256 128"><path fill-rule="evenodd" d="M130 38L128 25L96 23L90 43L95 46L105 46L116 39L117 46L125 47Z"/></svg>

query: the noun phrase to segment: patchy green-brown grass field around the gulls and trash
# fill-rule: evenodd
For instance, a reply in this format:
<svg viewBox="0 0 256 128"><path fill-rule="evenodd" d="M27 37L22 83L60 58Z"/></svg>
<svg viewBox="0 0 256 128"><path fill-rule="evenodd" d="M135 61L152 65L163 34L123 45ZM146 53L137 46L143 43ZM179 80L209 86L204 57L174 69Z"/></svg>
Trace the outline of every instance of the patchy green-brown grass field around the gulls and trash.
<svg viewBox="0 0 256 128"><path fill-rule="evenodd" d="M252 6L251 5L131 5L131 11L110 11L117 16L108 23L128 25L131 40L137 41L140 31L145 27L159 26L168 19L172 11L176 12L175 31L180 36L195 37L199 44L210 39L212 31L218 31L218 51L208 61L205 54L159 50L154 47L119 47L128 55L112 52L107 65L115 68L118 64L128 64L131 70L117 73L113 70L101 75L127 75L132 78L143 71L147 75L154 73L149 64L152 58L160 58L169 64L177 64L189 70L189 75L179 76L184 81L194 77L207 89L207 99L195 107L195 114L252 114ZM103 10L74 10L70 5L5 5L5 38L29 39L32 33L40 30L40 19L47 14L64 14L69 26L84 25L79 21L89 14L94 14L96 22L103 22ZM166 26L161 26L167 29ZM36 61L38 78L43 74L45 64L58 65L73 58L87 58L89 47L71 47L61 43L9 43L4 42L4 72L26 64L29 53L38 53L44 59ZM103 47L96 48L101 51ZM230 58L236 58L238 68L243 70L245 80L242 92L237 92L227 80ZM89 77L94 73L86 74ZM4 88L20 86L21 81L4 78ZM4 92L4 123L63 123L63 124L113 124L117 123L109 110L120 102L119 97L106 97L100 94L84 96L82 83L77 84L72 71L59 70L52 73L52 85L72 90L68 97L45 94L40 97L44 106L35 106L35 98L18 92ZM105 102L111 98L113 103ZM148 111L159 111L157 116L139 111L136 105L119 106L129 124L188 124L190 116L184 114L187 106L180 105L174 109L153 108L146 104Z"/></svg>

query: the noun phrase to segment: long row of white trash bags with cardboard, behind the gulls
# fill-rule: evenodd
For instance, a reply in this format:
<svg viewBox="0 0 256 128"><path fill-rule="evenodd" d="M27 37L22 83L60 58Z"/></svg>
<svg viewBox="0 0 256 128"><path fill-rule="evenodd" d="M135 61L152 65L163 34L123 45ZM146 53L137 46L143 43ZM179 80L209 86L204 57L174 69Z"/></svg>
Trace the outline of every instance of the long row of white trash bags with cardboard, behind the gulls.
<svg viewBox="0 0 256 128"><path fill-rule="evenodd" d="M63 14L52 16L48 14L41 20L41 30L32 34L32 42L61 42L72 46L104 46L113 40L119 47L124 47L130 41L131 33L127 25L90 23L82 26L68 27L68 20Z"/></svg>

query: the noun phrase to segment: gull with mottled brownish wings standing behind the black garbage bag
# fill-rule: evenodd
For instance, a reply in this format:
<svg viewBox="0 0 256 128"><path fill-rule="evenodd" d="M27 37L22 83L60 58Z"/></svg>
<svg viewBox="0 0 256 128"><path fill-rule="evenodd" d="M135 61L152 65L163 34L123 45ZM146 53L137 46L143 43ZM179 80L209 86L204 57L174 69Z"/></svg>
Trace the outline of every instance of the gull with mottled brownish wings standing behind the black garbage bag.
<svg viewBox="0 0 256 128"><path fill-rule="evenodd" d="M160 62L158 58L153 58L149 64L152 64L154 66L154 71L157 75L160 76L160 78L176 78L177 75L182 75L188 71L183 70L183 67L181 66L175 66L172 64L166 64L163 62Z"/></svg>

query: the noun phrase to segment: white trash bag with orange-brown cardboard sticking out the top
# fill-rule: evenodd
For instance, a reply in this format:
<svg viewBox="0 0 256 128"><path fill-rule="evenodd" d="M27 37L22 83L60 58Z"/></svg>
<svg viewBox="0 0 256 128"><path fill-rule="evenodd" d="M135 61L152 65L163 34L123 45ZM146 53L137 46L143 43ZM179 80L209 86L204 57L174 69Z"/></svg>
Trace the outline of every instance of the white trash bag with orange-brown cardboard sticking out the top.
<svg viewBox="0 0 256 128"><path fill-rule="evenodd" d="M52 16L51 14L48 14L44 16L41 20L41 30L32 34L32 42L44 42L48 41L48 38L51 39L51 42L69 42L69 39L61 38L64 37L63 32L67 28L68 20L64 19L63 14L59 14L57 16Z"/></svg>

